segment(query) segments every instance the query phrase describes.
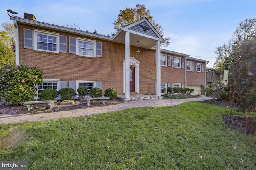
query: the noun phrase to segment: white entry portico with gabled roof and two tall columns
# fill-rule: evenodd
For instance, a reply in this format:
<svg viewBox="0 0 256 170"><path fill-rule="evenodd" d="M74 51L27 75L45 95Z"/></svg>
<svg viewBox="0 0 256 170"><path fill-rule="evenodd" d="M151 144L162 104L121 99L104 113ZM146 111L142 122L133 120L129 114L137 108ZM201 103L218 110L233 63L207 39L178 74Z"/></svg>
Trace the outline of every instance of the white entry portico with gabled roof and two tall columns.
<svg viewBox="0 0 256 170"><path fill-rule="evenodd" d="M152 24L143 18L128 26L122 27L113 37L113 41L122 43L125 46L125 59L124 59L124 93L125 98L130 97L130 46L139 48L151 49L156 47L156 95L161 96L161 49L160 44L164 42L162 36L156 31ZM138 43L139 42L139 43ZM134 60L134 57L131 59ZM140 61L142 62L142 61ZM138 64L138 62L137 62ZM139 92L139 67L136 72L136 85L135 91Z"/></svg>

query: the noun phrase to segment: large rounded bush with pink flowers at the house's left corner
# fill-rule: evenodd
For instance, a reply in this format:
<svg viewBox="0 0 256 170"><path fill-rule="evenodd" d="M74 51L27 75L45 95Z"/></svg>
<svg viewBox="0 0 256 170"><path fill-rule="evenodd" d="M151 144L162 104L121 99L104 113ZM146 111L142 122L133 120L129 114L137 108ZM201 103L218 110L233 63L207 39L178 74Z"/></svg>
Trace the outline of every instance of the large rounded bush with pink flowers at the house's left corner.
<svg viewBox="0 0 256 170"><path fill-rule="evenodd" d="M0 68L0 99L10 105L34 100L44 75L36 66L8 65Z"/></svg>

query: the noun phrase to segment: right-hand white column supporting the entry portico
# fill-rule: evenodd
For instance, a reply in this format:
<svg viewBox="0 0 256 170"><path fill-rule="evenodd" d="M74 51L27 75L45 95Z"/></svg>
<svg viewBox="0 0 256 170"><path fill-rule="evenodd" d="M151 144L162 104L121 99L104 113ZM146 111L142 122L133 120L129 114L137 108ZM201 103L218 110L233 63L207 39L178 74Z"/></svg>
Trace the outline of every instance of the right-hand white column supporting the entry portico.
<svg viewBox="0 0 256 170"><path fill-rule="evenodd" d="M161 48L159 40L156 42L156 95L161 96Z"/></svg>

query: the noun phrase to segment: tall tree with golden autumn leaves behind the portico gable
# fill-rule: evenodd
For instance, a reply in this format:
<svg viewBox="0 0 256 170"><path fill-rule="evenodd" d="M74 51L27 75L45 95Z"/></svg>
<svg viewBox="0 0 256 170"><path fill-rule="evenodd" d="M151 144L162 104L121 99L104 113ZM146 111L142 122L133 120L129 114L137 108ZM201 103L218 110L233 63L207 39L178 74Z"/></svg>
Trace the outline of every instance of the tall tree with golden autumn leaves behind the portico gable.
<svg viewBox="0 0 256 170"><path fill-rule="evenodd" d="M147 10L145 5L136 4L136 8L125 8L125 10L120 10L118 18L114 21L114 29L118 31L121 27L127 26L136 22L142 18L147 18L148 21L154 26L156 31L164 38L164 29L160 26L153 17L150 15L150 10ZM170 37L164 38L165 42L161 46L168 47L170 44Z"/></svg>

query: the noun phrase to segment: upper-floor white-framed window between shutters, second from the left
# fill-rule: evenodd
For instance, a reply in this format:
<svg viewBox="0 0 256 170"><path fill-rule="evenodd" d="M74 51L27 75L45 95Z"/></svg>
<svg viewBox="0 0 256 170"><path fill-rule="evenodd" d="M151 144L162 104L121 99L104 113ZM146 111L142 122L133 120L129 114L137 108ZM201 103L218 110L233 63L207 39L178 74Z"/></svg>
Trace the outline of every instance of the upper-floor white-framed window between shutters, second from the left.
<svg viewBox="0 0 256 170"><path fill-rule="evenodd" d="M85 57L96 57L96 41L77 38L76 54Z"/></svg>

